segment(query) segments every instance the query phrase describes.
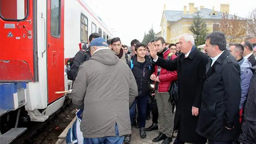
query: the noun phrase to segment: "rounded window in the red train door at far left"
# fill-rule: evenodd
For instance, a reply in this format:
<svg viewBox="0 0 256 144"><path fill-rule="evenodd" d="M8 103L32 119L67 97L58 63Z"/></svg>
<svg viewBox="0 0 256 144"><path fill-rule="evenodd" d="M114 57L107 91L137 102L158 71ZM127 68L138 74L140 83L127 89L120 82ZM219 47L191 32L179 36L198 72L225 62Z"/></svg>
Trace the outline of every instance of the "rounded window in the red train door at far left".
<svg viewBox="0 0 256 144"><path fill-rule="evenodd" d="M27 17L29 0L0 0L0 17L6 21L21 21Z"/></svg>

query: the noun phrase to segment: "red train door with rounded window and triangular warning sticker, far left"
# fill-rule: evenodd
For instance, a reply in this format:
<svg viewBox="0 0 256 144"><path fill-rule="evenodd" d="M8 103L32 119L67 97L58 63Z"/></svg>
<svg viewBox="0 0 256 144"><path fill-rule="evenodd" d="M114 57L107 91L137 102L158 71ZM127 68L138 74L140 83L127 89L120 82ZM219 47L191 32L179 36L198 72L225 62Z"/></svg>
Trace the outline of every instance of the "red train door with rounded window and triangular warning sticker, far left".
<svg viewBox="0 0 256 144"><path fill-rule="evenodd" d="M33 82L33 1L0 0L0 81Z"/></svg>

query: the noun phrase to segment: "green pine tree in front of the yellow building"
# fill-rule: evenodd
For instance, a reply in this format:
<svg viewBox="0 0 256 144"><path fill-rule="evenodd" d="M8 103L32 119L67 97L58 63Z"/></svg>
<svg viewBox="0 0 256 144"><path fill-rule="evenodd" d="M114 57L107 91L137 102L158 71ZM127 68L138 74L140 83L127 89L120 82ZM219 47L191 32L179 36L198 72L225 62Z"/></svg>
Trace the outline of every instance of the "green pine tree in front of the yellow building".
<svg viewBox="0 0 256 144"><path fill-rule="evenodd" d="M199 12L197 12L193 17L193 23L189 27L189 30L194 34L195 45L199 46L205 43L205 36L207 35L208 30L205 27L206 23L200 16Z"/></svg>

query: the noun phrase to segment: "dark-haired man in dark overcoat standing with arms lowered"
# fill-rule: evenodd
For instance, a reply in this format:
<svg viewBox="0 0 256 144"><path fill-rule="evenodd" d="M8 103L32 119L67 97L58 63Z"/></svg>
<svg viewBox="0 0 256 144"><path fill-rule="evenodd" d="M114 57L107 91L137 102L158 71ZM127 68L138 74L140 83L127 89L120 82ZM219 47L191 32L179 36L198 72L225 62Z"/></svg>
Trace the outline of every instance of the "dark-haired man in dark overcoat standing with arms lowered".
<svg viewBox="0 0 256 144"><path fill-rule="evenodd" d="M209 139L209 144L231 144L240 130L240 66L227 51L225 34L221 32L208 34L204 49L210 61L196 132Z"/></svg>

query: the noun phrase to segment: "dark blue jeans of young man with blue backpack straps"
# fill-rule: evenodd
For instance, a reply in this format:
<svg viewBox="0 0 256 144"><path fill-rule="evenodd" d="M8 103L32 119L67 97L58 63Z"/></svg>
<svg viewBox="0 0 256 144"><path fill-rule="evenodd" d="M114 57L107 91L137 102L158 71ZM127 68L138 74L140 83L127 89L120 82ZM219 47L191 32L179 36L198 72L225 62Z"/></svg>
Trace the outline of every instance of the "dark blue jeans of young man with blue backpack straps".
<svg viewBox="0 0 256 144"><path fill-rule="evenodd" d="M145 127L146 125L146 112L149 96L138 96L130 107L130 120L133 125L133 119L135 117L136 104L138 108L138 117L140 122L140 127Z"/></svg>

